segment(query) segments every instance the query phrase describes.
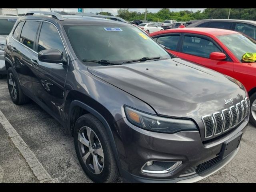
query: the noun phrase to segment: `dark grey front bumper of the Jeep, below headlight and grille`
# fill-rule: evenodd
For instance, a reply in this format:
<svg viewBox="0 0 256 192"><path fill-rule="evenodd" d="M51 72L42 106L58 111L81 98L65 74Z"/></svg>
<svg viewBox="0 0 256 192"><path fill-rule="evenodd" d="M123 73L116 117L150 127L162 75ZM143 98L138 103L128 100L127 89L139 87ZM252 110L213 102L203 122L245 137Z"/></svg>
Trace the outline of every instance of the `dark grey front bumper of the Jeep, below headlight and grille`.
<svg viewBox="0 0 256 192"><path fill-rule="evenodd" d="M247 124L248 117L228 134L203 143L198 131L183 131L175 134L149 132L133 126L123 118L116 122L118 137L115 138L121 163L121 175L129 182L174 183L201 180L228 164L239 148L203 172L189 176L183 173L191 167L216 158L222 149L222 144L238 133L245 132ZM166 174L143 173L142 166L150 160L182 161L182 165Z"/></svg>

